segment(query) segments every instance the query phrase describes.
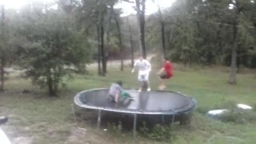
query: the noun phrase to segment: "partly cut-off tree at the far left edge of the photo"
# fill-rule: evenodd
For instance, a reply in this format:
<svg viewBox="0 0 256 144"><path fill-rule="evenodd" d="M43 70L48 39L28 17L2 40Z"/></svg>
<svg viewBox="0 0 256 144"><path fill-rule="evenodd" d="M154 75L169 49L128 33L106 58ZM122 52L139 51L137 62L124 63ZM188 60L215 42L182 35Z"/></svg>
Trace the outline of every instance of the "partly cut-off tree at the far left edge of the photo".
<svg viewBox="0 0 256 144"><path fill-rule="evenodd" d="M6 17L7 15L7 17ZM4 9L1 6L1 26L0 26L0 73L1 85L0 91L4 91L5 67L18 61L17 48L24 43L24 39L19 37L17 30L19 25L18 13L15 10Z"/></svg>

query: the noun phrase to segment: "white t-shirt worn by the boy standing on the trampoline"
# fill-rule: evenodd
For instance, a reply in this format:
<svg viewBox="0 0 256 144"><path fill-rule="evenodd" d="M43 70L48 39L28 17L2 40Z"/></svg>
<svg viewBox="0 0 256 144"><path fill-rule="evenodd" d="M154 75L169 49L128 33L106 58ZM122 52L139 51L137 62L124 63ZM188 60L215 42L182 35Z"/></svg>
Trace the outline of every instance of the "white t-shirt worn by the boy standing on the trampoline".
<svg viewBox="0 0 256 144"><path fill-rule="evenodd" d="M146 75L151 70L151 65L148 62L148 60L137 60L134 63L134 67L138 67L139 69L139 75Z"/></svg>

